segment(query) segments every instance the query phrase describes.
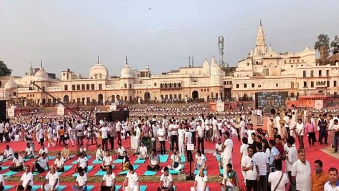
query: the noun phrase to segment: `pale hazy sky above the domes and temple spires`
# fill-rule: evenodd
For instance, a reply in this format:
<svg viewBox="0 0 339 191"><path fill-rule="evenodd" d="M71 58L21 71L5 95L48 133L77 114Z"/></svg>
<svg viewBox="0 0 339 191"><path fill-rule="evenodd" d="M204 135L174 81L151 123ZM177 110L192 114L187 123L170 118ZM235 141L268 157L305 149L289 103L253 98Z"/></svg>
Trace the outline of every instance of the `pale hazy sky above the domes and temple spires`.
<svg viewBox="0 0 339 191"><path fill-rule="evenodd" d="M260 18L273 50L297 52L319 33L339 35L338 10L338 0L0 0L0 60L19 76L40 59L57 76L88 76L100 55L120 76L127 55L133 69L160 73L187 66L188 55L210 60L224 36L224 60L236 66Z"/></svg>

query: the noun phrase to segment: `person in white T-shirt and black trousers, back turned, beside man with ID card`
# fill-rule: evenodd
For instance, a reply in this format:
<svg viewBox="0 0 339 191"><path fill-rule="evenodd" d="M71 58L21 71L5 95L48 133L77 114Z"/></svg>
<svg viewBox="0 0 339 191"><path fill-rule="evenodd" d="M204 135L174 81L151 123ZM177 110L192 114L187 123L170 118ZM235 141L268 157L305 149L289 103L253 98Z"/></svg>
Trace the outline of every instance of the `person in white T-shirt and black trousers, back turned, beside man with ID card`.
<svg viewBox="0 0 339 191"><path fill-rule="evenodd" d="M268 158L262 150L262 144L256 144L256 153L253 155L253 162L257 172L258 191L267 191L267 172L269 172Z"/></svg>

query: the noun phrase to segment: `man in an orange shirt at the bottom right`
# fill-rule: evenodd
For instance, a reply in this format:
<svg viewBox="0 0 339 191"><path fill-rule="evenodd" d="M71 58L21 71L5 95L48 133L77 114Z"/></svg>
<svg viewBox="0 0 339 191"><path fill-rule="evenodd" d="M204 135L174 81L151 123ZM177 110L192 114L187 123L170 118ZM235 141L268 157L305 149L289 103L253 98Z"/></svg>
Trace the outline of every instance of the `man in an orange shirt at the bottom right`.
<svg viewBox="0 0 339 191"><path fill-rule="evenodd" d="M322 161L314 161L315 172L311 176L312 191L323 191L325 183L330 180L328 175L323 171L322 165Z"/></svg>

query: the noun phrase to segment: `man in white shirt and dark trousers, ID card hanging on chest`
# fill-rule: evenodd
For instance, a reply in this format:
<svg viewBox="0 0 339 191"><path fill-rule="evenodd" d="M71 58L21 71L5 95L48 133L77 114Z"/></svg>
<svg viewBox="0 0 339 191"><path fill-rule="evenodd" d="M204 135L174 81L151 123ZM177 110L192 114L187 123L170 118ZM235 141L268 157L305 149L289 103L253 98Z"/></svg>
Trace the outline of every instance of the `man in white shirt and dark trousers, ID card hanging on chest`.
<svg viewBox="0 0 339 191"><path fill-rule="evenodd" d="M257 190L257 180L256 180L256 168L253 162L253 148L247 147L248 155L244 157L241 163L242 171L245 172L245 181L246 181L246 190L247 191L256 191Z"/></svg>

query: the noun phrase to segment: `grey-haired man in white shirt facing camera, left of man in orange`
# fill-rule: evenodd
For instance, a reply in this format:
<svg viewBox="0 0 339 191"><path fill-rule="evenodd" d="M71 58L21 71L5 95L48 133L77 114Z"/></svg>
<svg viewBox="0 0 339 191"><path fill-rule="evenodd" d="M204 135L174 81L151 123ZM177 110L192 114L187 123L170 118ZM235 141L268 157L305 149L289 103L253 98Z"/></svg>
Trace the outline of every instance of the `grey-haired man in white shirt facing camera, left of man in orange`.
<svg viewBox="0 0 339 191"><path fill-rule="evenodd" d="M298 150L298 157L292 166L292 180L296 183L297 191L311 191L311 165L306 161L304 149Z"/></svg>

